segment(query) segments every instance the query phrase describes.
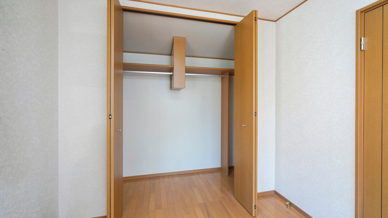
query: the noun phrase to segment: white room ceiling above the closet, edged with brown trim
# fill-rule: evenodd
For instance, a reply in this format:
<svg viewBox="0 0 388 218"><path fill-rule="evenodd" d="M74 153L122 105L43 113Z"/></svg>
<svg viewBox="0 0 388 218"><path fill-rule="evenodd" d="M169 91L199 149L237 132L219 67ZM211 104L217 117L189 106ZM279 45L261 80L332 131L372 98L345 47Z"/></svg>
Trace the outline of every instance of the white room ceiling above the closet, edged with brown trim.
<svg viewBox="0 0 388 218"><path fill-rule="evenodd" d="M257 10L259 18L276 20L303 0L147 0L203 10L247 15Z"/></svg>

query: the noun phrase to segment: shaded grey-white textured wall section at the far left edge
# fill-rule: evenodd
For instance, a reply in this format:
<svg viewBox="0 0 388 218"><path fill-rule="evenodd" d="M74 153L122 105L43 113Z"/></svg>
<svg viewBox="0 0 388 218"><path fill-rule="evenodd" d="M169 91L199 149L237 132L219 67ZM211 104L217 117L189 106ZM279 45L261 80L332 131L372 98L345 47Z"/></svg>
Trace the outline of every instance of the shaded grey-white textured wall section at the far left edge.
<svg viewBox="0 0 388 218"><path fill-rule="evenodd" d="M58 5L2 0L0 17L0 217L58 217Z"/></svg>

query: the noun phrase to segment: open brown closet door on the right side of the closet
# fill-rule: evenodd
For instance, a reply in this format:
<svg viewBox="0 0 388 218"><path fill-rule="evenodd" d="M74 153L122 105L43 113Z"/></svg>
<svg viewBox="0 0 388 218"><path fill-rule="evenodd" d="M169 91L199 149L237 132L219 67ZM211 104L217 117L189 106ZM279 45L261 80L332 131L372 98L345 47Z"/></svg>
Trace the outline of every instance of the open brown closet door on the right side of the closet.
<svg viewBox="0 0 388 218"><path fill-rule="evenodd" d="M234 197L256 216L257 10L234 27Z"/></svg>

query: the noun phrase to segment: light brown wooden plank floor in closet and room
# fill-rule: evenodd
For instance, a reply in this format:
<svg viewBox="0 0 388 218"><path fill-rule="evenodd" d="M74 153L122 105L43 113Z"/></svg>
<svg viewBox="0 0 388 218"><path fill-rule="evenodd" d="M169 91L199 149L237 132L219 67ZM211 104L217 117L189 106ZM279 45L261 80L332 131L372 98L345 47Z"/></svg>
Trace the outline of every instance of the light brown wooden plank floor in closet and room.
<svg viewBox="0 0 388 218"><path fill-rule="evenodd" d="M233 197L233 172L129 180L123 192L123 218L251 218ZM257 218L303 218L276 195L257 199Z"/></svg>

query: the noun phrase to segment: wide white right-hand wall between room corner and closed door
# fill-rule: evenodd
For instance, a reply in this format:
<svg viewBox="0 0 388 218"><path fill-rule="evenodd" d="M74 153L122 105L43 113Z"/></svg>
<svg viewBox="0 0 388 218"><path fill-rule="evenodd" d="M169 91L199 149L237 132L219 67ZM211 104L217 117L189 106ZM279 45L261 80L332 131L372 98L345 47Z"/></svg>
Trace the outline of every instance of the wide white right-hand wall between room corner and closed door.
<svg viewBox="0 0 388 218"><path fill-rule="evenodd" d="M276 23L275 190L314 218L354 217L355 11L308 0Z"/></svg>

